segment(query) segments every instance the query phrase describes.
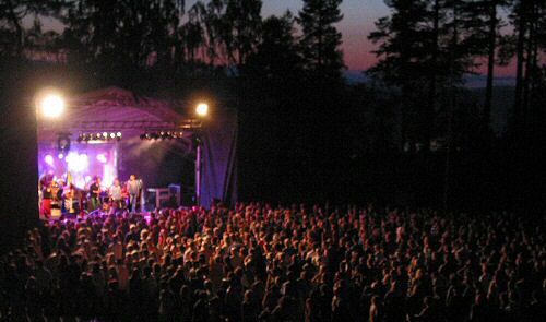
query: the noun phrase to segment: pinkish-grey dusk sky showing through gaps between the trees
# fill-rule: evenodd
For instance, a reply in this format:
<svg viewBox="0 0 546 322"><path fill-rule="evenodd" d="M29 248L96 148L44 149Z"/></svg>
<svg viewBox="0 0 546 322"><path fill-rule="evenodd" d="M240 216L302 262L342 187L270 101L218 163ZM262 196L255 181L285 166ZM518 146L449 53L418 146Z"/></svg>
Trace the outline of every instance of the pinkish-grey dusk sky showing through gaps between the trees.
<svg viewBox="0 0 546 322"><path fill-rule="evenodd" d="M190 8L197 0L186 2ZM294 15L302 7L302 0L262 0L262 16L282 15L290 10ZM367 39L370 32L375 29L375 22L382 16L389 15L390 10L384 0L343 0L341 4L343 20L336 25L343 36L342 51L347 70L363 71L372 67L377 58L371 52L376 46ZM51 26L51 22L45 25ZM55 23L52 23L55 25ZM484 67L478 71L484 72ZM514 65L496 68L496 76L513 76Z"/></svg>

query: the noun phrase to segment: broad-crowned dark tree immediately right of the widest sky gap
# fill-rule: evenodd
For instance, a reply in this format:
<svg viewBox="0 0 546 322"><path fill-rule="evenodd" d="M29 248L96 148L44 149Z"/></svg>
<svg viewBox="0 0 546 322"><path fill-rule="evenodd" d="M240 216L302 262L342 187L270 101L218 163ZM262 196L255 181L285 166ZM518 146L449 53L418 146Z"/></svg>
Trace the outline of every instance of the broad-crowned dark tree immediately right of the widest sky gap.
<svg viewBox="0 0 546 322"><path fill-rule="evenodd" d="M392 14L379 19L368 36L379 58L368 73L401 93L403 143L428 146L432 135L444 134L439 120L448 111L439 110L437 100L478 65L474 58L483 51L483 38L475 26L482 22L471 14L471 2L391 0Z"/></svg>

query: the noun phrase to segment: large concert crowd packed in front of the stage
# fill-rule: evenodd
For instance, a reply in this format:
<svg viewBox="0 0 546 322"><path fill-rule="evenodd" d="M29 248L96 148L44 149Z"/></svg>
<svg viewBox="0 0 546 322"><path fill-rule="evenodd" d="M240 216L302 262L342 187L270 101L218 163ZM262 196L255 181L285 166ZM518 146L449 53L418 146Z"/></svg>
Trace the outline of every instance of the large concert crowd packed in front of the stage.
<svg viewBox="0 0 546 322"><path fill-rule="evenodd" d="M12 321L544 321L545 217L248 203L45 223Z"/></svg>

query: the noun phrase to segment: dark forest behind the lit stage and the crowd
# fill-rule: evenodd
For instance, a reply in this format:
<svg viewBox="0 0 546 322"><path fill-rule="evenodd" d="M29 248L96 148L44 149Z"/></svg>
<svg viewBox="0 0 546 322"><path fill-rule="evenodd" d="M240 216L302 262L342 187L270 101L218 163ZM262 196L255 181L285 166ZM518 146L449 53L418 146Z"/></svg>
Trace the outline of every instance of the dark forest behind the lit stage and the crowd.
<svg viewBox="0 0 546 322"><path fill-rule="evenodd" d="M385 0L365 83L344 76L342 0L301 2L263 16L262 0L1 0L2 99L51 82L214 97L239 117L244 200L534 211L545 199L545 1ZM495 86L507 64L514 86ZM468 88L479 71L485 87Z"/></svg>

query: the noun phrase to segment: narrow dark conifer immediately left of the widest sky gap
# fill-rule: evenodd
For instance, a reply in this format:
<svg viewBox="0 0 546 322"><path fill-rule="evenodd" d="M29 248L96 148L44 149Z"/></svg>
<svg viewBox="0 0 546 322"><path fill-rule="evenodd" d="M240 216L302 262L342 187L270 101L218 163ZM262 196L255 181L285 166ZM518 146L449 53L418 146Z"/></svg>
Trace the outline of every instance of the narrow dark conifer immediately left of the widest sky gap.
<svg viewBox="0 0 546 322"><path fill-rule="evenodd" d="M339 81L345 67L340 50L342 35L334 24L343 19L342 0L304 0L297 19L301 25L301 53L305 68L312 77Z"/></svg>

